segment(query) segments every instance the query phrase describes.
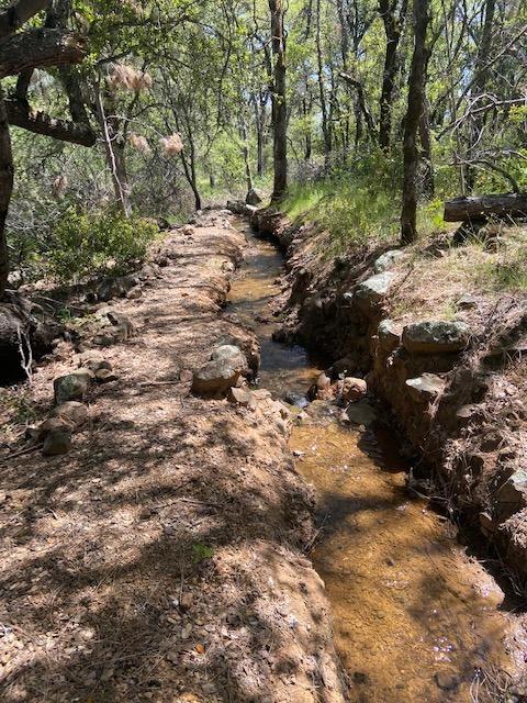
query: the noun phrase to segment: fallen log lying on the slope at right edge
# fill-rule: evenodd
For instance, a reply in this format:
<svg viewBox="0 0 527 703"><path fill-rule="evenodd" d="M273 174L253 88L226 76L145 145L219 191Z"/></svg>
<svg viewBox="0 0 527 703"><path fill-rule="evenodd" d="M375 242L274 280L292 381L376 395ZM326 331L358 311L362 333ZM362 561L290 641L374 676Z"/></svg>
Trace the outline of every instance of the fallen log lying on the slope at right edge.
<svg viewBox="0 0 527 703"><path fill-rule="evenodd" d="M527 217L527 193L471 196L445 202L445 222L482 222L491 217Z"/></svg>

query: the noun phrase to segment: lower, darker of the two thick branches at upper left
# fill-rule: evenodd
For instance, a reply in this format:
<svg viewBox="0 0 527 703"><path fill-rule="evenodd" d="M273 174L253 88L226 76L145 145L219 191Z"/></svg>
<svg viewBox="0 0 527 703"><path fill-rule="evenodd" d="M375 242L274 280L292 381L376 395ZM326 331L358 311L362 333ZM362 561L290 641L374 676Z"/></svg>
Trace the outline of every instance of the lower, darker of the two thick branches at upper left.
<svg viewBox="0 0 527 703"><path fill-rule="evenodd" d="M27 103L21 100L5 100L4 103L10 124L60 142L81 146L93 146L96 143L96 134L88 124L52 118L45 112L31 112Z"/></svg>

